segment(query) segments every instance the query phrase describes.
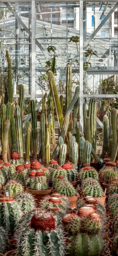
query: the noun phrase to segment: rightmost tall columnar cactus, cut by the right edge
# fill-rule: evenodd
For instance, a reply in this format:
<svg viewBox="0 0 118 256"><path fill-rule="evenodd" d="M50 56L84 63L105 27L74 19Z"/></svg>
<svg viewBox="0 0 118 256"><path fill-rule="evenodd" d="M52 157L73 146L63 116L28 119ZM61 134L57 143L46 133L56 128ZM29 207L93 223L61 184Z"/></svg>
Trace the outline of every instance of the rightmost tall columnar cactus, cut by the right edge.
<svg viewBox="0 0 118 256"><path fill-rule="evenodd" d="M111 125L112 125L112 139L113 139L111 162L115 162L115 158L117 154L117 110L115 108L111 109Z"/></svg>

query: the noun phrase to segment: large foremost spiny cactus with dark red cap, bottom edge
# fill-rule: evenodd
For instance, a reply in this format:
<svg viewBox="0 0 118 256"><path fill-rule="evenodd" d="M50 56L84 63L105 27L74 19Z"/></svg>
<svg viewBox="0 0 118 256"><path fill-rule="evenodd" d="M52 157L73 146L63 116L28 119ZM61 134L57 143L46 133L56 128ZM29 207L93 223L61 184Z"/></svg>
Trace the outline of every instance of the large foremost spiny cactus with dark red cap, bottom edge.
<svg viewBox="0 0 118 256"><path fill-rule="evenodd" d="M25 252L27 255L65 255L62 230L56 228L54 217L45 210L35 213L31 224L24 226L19 236L17 254L20 256Z"/></svg>

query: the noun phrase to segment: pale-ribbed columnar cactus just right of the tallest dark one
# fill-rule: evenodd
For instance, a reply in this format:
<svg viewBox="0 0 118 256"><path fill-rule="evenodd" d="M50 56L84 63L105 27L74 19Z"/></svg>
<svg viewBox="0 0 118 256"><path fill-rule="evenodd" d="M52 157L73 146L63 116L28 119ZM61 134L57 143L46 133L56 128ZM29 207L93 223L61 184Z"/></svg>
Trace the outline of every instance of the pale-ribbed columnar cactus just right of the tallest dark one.
<svg viewBox="0 0 118 256"><path fill-rule="evenodd" d="M17 149L20 158L23 158L23 142L22 142L22 124L21 124L21 115L20 107L17 106L15 110L16 116L16 134L17 134Z"/></svg>

